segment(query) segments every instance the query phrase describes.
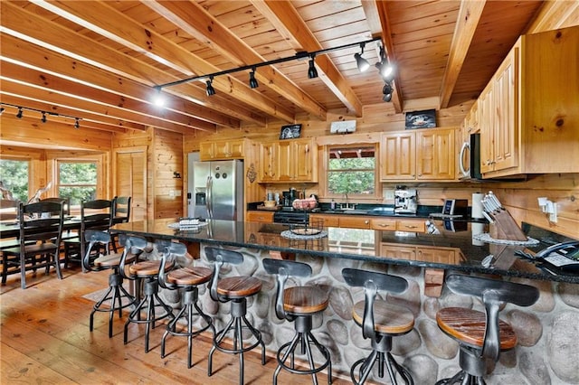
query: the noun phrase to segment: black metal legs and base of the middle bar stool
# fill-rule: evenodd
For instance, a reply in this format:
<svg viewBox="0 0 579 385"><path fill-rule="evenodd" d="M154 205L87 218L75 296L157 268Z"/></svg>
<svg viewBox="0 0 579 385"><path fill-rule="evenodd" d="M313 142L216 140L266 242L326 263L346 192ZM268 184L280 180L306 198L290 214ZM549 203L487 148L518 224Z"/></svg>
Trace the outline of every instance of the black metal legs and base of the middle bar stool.
<svg viewBox="0 0 579 385"><path fill-rule="evenodd" d="M261 339L261 332L254 328L252 324L249 323L245 317L247 301L245 298L240 300L233 300L231 314L232 318L229 320L227 325L214 335L214 345L209 351L209 362L207 366L207 375L211 376L212 371L212 359L215 350L220 352L239 354L239 383L243 383L243 353L249 352L261 345L261 365L265 365L265 343ZM252 333L255 342L252 344L246 344L243 346L243 329L247 329ZM223 344L223 339L229 334L233 333L233 348L228 348Z"/></svg>

